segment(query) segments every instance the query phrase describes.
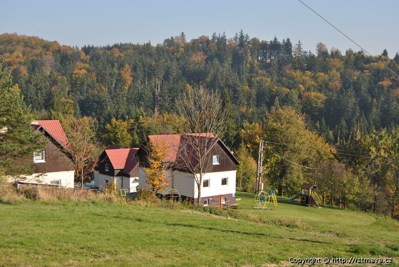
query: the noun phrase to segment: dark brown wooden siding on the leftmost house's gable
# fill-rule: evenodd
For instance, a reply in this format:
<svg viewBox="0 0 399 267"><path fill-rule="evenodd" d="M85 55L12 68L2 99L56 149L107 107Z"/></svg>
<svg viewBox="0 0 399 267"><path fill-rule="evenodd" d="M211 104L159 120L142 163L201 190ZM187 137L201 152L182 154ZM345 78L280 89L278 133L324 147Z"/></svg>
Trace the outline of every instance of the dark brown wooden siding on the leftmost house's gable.
<svg viewBox="0 0 399 267"><path fill-rule="evenodd" d="M46 138L46 137L43 137ZM46 162L34 163L33 173L75 170L72 160L51 140L47 139L44 159ZM33 155L30 155L33 160Z"/></svg>

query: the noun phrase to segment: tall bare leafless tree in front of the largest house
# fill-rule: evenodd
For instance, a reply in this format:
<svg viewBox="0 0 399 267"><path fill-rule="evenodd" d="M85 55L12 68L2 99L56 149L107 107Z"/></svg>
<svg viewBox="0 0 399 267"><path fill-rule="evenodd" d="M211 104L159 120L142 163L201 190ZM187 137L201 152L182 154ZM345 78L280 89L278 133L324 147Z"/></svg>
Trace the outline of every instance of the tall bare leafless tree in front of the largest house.
<svg viewBox="0 0 399 267"><path fill-rule="evenodd" d="M203 88L190 89L179 97L176 101L176 111L185 123L176 120L175 128L178 128L182 135L171 135L171 138L180 138L180 145L173 146L178 148L178 151L175 151L175 167L193 174L198 188L199 205L202 178L212 167L212 158L208 152L218 141L217 137L224 132L226 112L220 95ZM171 123L174 122L169 122Z"/></svg>

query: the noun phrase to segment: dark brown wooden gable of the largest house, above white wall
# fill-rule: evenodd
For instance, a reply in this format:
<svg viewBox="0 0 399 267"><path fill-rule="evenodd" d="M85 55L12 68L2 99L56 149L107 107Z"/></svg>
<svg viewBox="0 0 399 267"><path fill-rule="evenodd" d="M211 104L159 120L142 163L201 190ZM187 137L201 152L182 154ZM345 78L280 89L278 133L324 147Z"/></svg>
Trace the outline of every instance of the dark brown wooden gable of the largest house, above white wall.
<svg viewBox="0 0 399 267"><path fill-rule="evenodd" d="M219 155L219 164L213 165L212 156ZM207 162L205 163L206 172L230 171L236 170L235 162L229 156L229 151L220 143L217 142L208 151Z"/></svg>

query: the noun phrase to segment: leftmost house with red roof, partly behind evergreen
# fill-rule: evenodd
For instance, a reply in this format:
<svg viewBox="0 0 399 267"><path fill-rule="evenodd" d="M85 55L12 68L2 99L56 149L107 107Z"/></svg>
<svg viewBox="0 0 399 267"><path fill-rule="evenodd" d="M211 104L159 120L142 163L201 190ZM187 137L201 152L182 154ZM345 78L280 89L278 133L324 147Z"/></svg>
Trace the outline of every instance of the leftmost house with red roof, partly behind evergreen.
<svg viewBox="0 0 399 267"><path fill-rule="evenodd" d="M66 152L68 138L60 122L33 121L31 126L35 131L43 132L47 143L44 150L30 155L34 163L33 174L24 175L24 181L74 187L75 168Z"/></svg>

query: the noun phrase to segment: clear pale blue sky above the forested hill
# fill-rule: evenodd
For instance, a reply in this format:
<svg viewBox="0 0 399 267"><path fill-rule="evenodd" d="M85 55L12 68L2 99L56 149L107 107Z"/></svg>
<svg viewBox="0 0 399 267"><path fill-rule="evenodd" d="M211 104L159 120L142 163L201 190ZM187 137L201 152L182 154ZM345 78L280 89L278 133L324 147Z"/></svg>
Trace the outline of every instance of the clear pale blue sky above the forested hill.
<svg viewBox="0 0 399 267"><path fill-rule="evenodd" d="M303 0L370 53L399 51L399 0ZM60 44L162 43L185 32L188 40L213 32L233 37L300 39L345 52L356 47L298 0L1 0L0 33L35 35Z"/></svg>

